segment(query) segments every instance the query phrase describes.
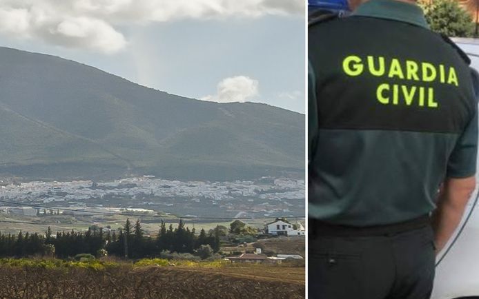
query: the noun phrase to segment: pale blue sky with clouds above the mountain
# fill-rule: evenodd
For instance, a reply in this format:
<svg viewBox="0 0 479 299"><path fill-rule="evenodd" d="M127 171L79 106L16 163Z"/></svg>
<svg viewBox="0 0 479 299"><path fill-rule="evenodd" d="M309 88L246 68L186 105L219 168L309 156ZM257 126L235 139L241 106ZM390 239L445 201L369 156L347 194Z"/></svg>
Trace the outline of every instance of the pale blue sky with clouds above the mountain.
<svg viewBox="0 0 479 299"><path fill-rule="evenodd" d="M304 113L302 2L5 0L0 39L172 94Z"/></svg>

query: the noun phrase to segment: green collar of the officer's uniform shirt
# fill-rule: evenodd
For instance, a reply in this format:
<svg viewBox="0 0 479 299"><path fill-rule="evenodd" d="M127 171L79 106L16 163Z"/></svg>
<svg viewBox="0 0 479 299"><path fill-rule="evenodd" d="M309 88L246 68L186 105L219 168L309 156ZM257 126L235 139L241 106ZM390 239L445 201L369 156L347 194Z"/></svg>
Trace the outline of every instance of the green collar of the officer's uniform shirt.
<svg viewBox="0 0 479 299"><path fill-rule="evenodd" d="M390 19L429 28L419 6L397 0L369 0L358 7L353 15Z"/></svg>

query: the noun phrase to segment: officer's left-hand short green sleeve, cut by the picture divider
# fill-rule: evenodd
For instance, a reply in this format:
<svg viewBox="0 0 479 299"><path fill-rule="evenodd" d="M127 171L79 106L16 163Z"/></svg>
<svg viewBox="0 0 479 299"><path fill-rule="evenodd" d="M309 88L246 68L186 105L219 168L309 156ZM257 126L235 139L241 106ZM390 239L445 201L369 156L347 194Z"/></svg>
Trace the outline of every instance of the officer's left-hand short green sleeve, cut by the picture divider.
<svg viewBox="0 0 479 299"><path fill-rule="evenodd" d="M316 151L318 118L316 99L316 79L313 67L308 61L308 164L313 161Z"/></svg>

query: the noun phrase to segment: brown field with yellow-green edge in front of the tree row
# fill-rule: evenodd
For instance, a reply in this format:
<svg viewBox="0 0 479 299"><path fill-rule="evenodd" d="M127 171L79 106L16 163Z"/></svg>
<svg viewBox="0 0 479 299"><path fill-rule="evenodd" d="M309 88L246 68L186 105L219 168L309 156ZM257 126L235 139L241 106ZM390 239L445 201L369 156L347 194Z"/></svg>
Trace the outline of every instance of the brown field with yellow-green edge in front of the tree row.
<svg viewBox="0 0 479 299"><path fill-rule="evenodd" d="M304 267L224 260L0 260L0 298L304 298Z"/></svg>

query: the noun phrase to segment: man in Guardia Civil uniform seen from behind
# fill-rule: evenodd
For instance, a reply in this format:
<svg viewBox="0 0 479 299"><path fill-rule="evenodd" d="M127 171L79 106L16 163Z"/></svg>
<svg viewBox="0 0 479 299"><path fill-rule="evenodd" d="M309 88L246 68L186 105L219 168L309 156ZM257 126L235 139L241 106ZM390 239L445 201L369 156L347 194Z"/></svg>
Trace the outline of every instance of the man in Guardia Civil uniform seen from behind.
<svg viewBox="0 0 479 299"><path fill-rule="evenodd" d="M309 298L429 298L476 186L470 61L416 3L362 2L309 26Z"/></svg>

